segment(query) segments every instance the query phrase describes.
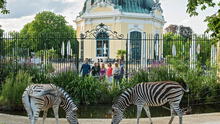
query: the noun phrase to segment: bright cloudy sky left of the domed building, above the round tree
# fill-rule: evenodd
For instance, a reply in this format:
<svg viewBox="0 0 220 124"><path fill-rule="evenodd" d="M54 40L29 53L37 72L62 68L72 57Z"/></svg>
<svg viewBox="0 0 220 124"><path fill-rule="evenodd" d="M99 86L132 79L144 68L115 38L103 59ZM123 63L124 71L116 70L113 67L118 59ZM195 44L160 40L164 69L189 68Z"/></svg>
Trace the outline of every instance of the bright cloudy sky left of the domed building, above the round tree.
<svg viewBox="0 0 220 124"><path fill-rule="evenodd" d="M22 1L28 1L28 0L21 0L21 2ZM49 3L48 5L51 5L51 6L46 7L45 5L44 6L42 5L43 8L39 8L39 7L41 6L43 2L46 1L45 3L47 3L49 0L45 0L45 1L39 0L37 2L36 0L35 2L34 0L30 0L30 1L33 1L33 3L31 2L27 2L27 3L30 3L31 6L35 6L35 8L27 7L27 9L26 8L24 9L19 5L20 7L17 7L17 8L20 8L21 10L16 11L15 13L16 15L14 15L12 12L10 13L10 15L3 15L4 16L3 18L1 17L2 15L0 15L0 25L2 26L1 28L5 30L5 32L20 31L25 24L31 22L34 19L36 13L41 12L43 10L50 10L56 14L60 14L64 16L69 25L76 27L73 20L75 20L79 11L81 11L83 7L83 2L78 1L78 0L50 0L52 3ZM63 3L62 7L59 7L61 5L59 6L56 5L56 2ZM8 3L18 4L18 1L9 0ZM66 6L66 4L68 5ZM32 11L32 12L26 12L26 11Z"/></svg>

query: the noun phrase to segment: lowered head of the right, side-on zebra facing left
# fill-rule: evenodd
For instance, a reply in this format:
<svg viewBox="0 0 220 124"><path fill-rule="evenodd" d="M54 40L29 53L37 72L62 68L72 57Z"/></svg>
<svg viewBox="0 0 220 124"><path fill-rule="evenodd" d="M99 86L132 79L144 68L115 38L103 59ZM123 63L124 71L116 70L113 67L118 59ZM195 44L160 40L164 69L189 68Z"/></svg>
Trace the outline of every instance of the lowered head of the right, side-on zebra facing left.
<svg viewBox="0 0 220 124"><path fill-rule="evenodd" d="M123 118L123 111L121 111L118 107L115 107L113 105L112 106L112 113L113 113L112 124L119 124L119 122Z"/></svg>

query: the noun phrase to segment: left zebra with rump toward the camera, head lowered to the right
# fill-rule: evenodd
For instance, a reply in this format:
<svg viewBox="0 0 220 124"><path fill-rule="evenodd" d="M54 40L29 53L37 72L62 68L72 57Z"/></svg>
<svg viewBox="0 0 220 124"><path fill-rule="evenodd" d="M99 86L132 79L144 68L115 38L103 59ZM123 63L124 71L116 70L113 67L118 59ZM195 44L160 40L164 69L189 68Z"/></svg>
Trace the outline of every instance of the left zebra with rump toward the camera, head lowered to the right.
<svg viewBox="0 0 220 124"><path fill-rule="evenodd" d="M59 124L59 107L65 110L66 118L70 124L78 124L76 117L77 106L67 92L54 84L33 84L28 86L23 93L22 102L31 124L36 124L40 111L44 111L44 124L49 108L53 108L56 124Z"/></svg>

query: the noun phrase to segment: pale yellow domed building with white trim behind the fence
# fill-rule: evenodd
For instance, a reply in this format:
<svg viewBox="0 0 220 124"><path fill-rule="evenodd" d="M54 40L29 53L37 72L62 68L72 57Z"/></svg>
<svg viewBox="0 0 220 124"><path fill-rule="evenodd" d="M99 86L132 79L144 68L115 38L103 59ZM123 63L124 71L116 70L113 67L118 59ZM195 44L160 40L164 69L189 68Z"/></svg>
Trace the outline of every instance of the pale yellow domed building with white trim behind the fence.
<svg viewBox="0 0 220 124"><path fill-rule="evenodd" d="M95 30L99 24L103 23L107 25L108 30L116 31L118 34L123 34L125 39L128 38L129 54L136 51L136 59L141 59L143 53L141 39L145 39L146 34L159 36L163 33L165 20L162 13L159 0L156 2L153 0L86 0L83 10L75 20L77 37L85 34L86 31ZM126 40L117 38L112 40L108 32L96 32L95 36L91 35L87 38L90 40L85 39L79 43L82 59L116 58L117 50L126 49ZM154 47L154 43L145 49ZM152 49L152 54L154 51Z"/></svg>

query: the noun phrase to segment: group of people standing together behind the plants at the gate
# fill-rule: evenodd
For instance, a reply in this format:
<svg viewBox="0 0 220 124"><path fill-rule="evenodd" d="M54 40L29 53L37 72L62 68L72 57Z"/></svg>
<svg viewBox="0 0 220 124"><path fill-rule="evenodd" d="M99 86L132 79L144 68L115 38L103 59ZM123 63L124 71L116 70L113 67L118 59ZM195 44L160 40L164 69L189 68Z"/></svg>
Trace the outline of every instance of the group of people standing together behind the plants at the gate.
<svg viewBox="0 0 220 124"><path fill-rule="evenodd" d="M91 67L88 64L88 59L85 59L85 62L80 69L80 73L82 73L83 77L91 75L100 80L107 79L110 83L113 81L119 83L124 76L124 64L122 61L119 63L116 62L114 63L114 67L112 67L112 63L108 63L106 68L105 63L100 64L99 62L95 62Z"/></svg>

